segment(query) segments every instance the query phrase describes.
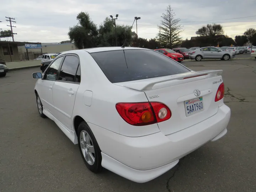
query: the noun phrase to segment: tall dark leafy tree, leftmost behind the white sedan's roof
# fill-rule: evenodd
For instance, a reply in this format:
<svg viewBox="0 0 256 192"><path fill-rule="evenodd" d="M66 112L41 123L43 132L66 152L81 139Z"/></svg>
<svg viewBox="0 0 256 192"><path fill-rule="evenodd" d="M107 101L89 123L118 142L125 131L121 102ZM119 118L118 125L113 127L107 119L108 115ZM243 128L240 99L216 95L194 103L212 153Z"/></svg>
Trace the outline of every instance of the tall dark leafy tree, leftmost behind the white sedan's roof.
<svg viewBox="0 0 256 192"><path fill-rule="evenodd" d="M76 16L78 24L69 28L69 39L78 49L96 47L98 30L87 12L80 12Z"/></svg>

